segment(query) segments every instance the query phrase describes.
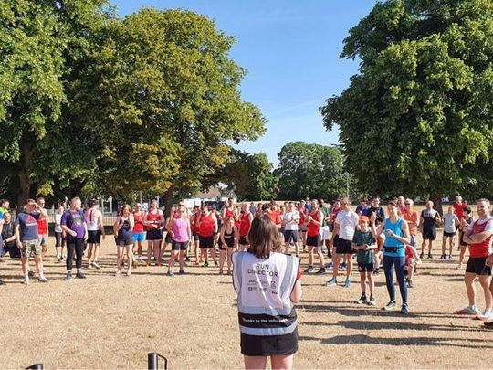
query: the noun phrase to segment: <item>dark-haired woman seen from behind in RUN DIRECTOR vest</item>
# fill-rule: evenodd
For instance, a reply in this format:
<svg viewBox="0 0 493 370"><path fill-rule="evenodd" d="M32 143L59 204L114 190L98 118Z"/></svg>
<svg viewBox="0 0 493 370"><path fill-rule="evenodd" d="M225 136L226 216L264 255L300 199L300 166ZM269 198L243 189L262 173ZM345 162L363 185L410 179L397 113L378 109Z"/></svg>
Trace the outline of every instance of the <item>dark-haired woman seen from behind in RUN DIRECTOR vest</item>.
<svg viewBox="0 0 493 370"><path fill-rule="evenodd" d="M233 254L241 353L245 368L290 369L298 351L294 303L301 299L299 259L282 253L278 227L267 215L256 217L250 248Z"/></svg>

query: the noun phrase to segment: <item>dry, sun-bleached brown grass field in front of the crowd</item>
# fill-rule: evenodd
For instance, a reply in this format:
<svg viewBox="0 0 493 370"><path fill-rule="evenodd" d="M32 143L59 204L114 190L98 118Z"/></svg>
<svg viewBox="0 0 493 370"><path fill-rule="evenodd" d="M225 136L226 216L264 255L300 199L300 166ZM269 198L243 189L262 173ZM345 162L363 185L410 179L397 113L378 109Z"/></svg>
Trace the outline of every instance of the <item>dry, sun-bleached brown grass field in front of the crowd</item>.
<svg viewBox="0 0 493 370"><path fill-rule="evenodd" d="M229 277L189 267L186 276L167 278L163 268L139 267L131 278L115 278L114 254L109 238L104 269L70 282L61 280L63 265L48 257L51 281L29 286L21 284L18 261L5 259L0 367L145 368L154 351L171 368L242 367ZM350 289L325 287L328 275L303 276L295 367L489 368L493 331L453 313L467 303L463 270L455 267L425 260L410 290L408 317L380 310L387 301L382 275L377 308L353 303L360 295L356 273Z"/></svg>

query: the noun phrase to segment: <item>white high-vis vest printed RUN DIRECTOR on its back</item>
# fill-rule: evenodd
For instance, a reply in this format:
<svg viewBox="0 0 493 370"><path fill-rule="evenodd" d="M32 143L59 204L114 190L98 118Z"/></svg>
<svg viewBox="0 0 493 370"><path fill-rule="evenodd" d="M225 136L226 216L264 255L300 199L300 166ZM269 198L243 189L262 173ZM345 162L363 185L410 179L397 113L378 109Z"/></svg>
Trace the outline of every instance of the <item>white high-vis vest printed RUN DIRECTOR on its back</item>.
<svg viewBox="0 0 493 370"><path fill-rule="evenodd" d="M257 259L249 252L233 253L233 283L237 293L240 332L248 335L284 335L298 325L291 292L299 259L271 253Z"/></svg>

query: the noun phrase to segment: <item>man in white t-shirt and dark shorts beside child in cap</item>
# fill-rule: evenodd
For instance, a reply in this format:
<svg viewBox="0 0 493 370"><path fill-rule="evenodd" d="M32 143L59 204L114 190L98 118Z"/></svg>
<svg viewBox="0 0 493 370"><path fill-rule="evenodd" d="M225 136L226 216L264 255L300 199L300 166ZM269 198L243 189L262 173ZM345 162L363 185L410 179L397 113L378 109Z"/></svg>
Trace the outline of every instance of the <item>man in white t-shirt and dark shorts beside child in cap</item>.
<svg viewBox="0 0 493 370"><path fill-rule="evenodd" d="M352 237L354 237L354 231L358 225L358 214L351 210L351 200L344 198L341 200L341 211L337 214L334 223L334 232L332 233L332 240L330 244L333 244L334 236L338 235L336 243L336 252L333 258L334 270L333 277L327 281L327 286L331 287L337 285L337 274L339 273L339 263L341 257L344 255L348 261L348 267L346 270L346 280L344 281L344 287L351 287L351 272L352 272Z"/></svg>

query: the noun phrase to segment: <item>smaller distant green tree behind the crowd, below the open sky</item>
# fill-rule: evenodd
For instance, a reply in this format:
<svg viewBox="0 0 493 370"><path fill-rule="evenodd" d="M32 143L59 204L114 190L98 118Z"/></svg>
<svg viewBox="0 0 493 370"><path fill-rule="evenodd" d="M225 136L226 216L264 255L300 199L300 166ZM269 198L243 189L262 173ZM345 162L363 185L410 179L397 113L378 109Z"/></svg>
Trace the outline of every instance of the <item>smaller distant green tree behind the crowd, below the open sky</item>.
<svg viewBox="0 0 493 370"><path fill-rule="evenodd" d="M281 198L304 199L310 196L331 201L346 194L348 174L344 173L344 157L339 148L304 142L287 143L278 153L278 159L275 174L279 177Z"/></svg>

